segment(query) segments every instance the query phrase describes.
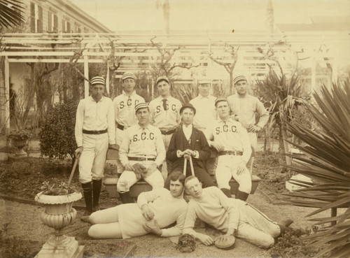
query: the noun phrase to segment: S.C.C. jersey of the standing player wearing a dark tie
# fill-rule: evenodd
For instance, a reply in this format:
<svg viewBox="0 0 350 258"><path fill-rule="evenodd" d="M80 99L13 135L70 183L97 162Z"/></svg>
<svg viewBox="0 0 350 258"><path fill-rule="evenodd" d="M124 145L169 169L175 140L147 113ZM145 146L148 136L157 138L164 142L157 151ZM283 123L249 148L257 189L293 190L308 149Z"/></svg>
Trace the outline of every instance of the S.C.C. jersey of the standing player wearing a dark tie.
<svg viewBox="0 0 350 258"><path fill-rule="evenodd" d="M169 96L166 101L166 110L163 106L162 96L150 102L151 124L161 131L175 129L180 121L180 108L182 106L179 99Z"/></svg>

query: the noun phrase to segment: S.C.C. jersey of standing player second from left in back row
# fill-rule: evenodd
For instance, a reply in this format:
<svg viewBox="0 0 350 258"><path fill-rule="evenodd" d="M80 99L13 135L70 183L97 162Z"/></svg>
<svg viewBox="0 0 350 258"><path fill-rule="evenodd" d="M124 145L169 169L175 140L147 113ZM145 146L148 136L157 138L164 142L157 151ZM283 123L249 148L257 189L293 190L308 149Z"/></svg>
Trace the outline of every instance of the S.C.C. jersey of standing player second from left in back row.
<svg viewBox="0 0 350 258"><path fill-rule="evenodd" d="M131 127L137 124L135 106L141 102L145 102L145 99L136 94L135 91L129 96L123 90L123 93L116 96L113 100L116 122L124 127Z"/></svg>

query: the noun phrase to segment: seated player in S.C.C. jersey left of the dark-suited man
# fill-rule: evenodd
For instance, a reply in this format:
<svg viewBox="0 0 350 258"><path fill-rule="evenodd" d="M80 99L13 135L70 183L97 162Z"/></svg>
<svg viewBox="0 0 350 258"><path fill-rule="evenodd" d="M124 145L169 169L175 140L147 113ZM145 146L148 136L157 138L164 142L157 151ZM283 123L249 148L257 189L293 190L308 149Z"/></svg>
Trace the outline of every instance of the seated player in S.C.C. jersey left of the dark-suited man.
<svg viewBox="0 0 350 258"><path fill-rule="evenodd" d="M150 111L146 103L135 107L138 124L128 127L119 149L120 162L125 171L120 175L117 191L123 203L134 202L130 187L143 178L153 189L164 186L158 166L165 160L165 148L160 129L150 124Z"/></svg>

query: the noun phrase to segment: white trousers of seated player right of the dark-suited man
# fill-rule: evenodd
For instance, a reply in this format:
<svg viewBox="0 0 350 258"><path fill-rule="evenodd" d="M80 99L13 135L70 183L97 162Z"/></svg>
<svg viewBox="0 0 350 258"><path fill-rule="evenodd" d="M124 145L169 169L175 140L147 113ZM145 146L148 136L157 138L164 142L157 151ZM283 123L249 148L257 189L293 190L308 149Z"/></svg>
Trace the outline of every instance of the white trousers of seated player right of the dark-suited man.
<svg viewBox="0 0 350 258"><path fill-rule="evenodd" d="M241 164L241 156L221 155L218 157L218 166L215 175L218 187L230 189L230 180L234 178L239 184L239 191L246 194L251 193L251 173L245 169L243 173L237 175L237 166Z"/></svg>

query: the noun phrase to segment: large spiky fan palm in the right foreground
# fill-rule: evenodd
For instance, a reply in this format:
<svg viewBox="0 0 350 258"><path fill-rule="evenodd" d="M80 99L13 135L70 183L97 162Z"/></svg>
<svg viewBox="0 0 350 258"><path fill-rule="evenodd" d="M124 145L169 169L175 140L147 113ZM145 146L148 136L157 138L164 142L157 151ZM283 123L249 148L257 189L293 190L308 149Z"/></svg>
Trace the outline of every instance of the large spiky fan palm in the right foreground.
<svg viewBox="0 0 350 258"><path fill-rule="evenodd" d="M321 257L350 257L350 80L343 85L333 84L328 90L323 85L321 95L314 94L319 106L309 105L311 115L318 122L317 130L302 126L297 121L286 122L287 129L300 138L306 146L292 143L307 157L289 155L297 163L287 166L297 173L307 175L313 182L294 180L304 188L287 194L295 206L318 208L308 216L331 210L329 217L311 219L316 224L330 225L310 235L312 246L324 247ZM346 208L337 215L337 208Z"/></svg>

